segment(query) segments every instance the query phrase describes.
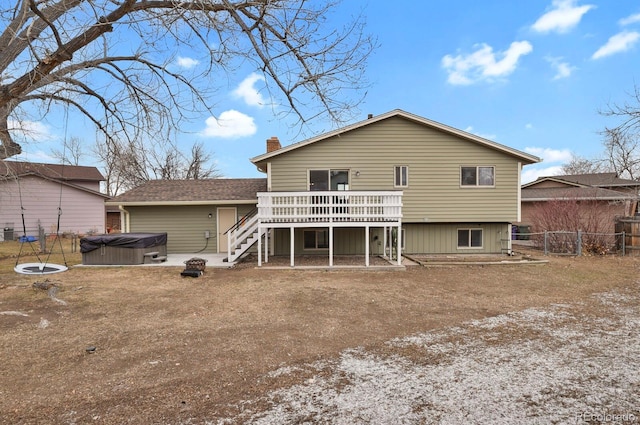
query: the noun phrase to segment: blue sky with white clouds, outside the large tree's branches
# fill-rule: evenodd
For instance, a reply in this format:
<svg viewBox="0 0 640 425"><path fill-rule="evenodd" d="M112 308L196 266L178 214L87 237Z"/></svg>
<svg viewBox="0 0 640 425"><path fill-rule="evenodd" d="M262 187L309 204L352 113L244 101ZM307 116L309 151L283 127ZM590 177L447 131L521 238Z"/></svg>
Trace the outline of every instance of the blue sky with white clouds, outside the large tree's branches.
<svg viewBox="0 0 640 425"><path fill-rule="evenodd" d="M599 155L599 132L616 122L598 111L630 101L640 85L637 0L345 0L335 13L362 14L380 44L356 121L399 108L543 158L525 167L523 182L558 174L572 153ZM196 63L185 54L176 65ZM274 119L250 69L219 95L217 119L193 121L182 142L203 142L225 177L262 177L249 158L271 136L301 140ZM60 128L38 125L59 141ZM22 159L47 162L46 144L25 152Z"/></svg>

